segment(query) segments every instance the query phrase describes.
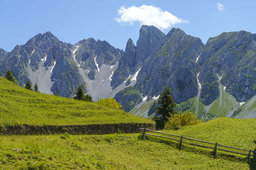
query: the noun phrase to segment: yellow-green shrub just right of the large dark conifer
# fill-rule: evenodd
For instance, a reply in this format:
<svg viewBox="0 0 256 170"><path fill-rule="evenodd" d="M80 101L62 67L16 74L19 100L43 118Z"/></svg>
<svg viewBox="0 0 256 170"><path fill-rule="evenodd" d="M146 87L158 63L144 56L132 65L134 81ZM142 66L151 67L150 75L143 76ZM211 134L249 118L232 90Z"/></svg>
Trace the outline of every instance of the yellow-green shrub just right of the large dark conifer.
<svg viewBox="0 0 256 170"><path fill-rule="evenodd" d="M184 112L171 115L170 118L167 118L168 121L164 124L164 128L173 129L174 127L183 127L185 125L196 125L202 122L201 119L198 119L193 112Z"/></svg>

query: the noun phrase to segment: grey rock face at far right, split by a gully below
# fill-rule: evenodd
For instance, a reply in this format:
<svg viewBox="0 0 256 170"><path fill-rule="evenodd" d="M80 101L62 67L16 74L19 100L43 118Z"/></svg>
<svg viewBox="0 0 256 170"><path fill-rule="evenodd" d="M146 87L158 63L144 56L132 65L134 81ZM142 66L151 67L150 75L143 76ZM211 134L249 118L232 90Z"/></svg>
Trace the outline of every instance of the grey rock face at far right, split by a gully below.
<svg viewBox="0 0 256 170"><path fill-rule="evenodd" d="M201 98L210 104L219 94L218 76L228 93L245 102L256 94L256 34L246 31L224 32L210 38L198 59L202 70Z"/></svg>

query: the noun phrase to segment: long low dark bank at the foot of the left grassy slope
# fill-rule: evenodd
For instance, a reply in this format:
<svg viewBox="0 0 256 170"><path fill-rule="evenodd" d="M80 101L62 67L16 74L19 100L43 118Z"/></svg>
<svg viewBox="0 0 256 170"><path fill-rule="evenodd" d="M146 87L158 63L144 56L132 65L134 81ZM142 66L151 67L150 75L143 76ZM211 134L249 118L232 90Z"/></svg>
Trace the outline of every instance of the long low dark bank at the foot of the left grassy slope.
<svg viewBox="0 0 256 170"><path fill-rule="evenodd" d="M94 125L4 125L0 126L0 134L113 134L138 133L141 127L155 129L155 124L94 124Z"/></svg>

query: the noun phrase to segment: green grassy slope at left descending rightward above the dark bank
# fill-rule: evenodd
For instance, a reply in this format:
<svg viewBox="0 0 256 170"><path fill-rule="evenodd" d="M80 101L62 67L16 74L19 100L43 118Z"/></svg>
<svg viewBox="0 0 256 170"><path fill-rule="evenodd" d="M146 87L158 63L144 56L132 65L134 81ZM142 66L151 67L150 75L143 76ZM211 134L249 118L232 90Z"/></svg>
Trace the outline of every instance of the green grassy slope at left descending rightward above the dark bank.
<svg viewBox="0 0 256 170"><path fill-rule="evenodd" d="M33 92L0 77L0 125L150 123L98 103Z"/></svg>

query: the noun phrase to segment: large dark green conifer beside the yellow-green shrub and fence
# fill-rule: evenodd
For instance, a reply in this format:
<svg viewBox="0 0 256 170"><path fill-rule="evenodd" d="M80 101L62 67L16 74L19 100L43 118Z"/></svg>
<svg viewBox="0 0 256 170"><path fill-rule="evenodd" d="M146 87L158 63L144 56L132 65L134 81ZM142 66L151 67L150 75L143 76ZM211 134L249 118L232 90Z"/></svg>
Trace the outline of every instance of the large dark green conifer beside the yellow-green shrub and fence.
<svg viewBox="0 0 256 170"><path fill-rule="evenodd" d="M175 106L176 103L172 97L171 89L165 87L156 106L156 113L161 115L161 120L163 120L163 123L168 122L168 117L176 113L174 110Z"/></svg>

